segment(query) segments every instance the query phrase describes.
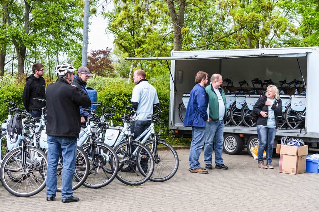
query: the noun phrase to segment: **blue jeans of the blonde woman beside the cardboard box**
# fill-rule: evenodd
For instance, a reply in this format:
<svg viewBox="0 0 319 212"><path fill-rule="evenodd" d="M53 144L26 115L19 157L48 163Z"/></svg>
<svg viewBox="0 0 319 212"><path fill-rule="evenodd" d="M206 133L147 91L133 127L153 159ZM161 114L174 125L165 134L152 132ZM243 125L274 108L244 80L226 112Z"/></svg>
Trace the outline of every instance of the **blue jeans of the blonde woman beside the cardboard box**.
<svg viewBox="0 0 319 212"><path fill-rule="evenodd" d="M257 125L257 133L259 139L259 147L258 147L258 163L263 161L263 151L266 148L266 164L271 164L272 160L272 149L274 146L274 140L276 136L276 128L275 127L265 127L263 125Z"/></svg>

